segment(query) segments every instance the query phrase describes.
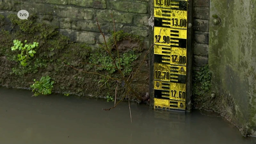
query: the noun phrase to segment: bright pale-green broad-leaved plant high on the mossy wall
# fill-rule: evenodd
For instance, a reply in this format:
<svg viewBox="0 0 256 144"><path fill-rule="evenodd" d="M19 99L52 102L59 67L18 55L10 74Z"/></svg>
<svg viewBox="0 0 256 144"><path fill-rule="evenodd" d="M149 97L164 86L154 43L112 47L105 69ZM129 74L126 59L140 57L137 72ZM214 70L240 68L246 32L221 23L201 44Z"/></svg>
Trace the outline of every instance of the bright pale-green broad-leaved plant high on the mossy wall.
<svg viewBox="0 0 256 144"><path fill-rule="evenodd" d="M27 40L25 40L25 43L27 43ZM38 42L34 42L33 44L25 44L23 47L23 43L19 41L18 39L13 40L13 46L11 47L12 51L16 51L19 49L20 54L18 54L18 60L20 61L20 64L24 67L27 66L27 60L34 57L34 54L36 53L35 50L33 50L35 47L38 47Z"/></svg>

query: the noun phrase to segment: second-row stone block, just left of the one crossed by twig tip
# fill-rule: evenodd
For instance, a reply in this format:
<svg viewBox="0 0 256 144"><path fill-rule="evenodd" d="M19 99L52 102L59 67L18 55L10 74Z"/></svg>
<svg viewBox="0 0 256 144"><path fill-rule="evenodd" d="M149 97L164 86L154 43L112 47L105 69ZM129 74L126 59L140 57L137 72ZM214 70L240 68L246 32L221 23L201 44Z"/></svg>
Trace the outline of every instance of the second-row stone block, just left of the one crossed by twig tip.
<svg viewBox="0 0 256 144"><path fill-rule="evenodd" d="M77 8L73 6L56 6L54 13L59 17L92 20L93 9Z"/></svg>

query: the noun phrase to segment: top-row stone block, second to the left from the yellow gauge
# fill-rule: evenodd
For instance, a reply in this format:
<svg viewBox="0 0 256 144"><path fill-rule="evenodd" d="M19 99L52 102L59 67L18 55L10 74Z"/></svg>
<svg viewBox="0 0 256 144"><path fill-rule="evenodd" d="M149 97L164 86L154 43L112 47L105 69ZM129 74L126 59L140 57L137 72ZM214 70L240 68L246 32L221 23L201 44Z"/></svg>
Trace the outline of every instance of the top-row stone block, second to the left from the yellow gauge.
<svg viewBox="0 0 256 144"><path fill-rule="evenodd" d="M101 9L106 8L106 0L68 0L68 4Z"/></svg>

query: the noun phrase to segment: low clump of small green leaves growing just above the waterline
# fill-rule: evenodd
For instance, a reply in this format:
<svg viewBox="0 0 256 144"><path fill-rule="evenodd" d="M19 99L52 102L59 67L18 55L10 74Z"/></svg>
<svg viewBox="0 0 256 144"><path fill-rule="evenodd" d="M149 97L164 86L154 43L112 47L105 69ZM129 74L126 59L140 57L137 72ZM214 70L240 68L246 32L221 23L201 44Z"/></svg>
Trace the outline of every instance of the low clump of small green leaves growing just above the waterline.
<svg viewBox="0 0 256 144"><path fill-rule="evenodd" d="M30 85L32 92L35 92L33 96L38 96L39 94L49 95L52 93L54 81L51 81L51 77L42 76L40 81L36 81L36 79L34 79L34 82L35 83L33 85Z"/></svg>

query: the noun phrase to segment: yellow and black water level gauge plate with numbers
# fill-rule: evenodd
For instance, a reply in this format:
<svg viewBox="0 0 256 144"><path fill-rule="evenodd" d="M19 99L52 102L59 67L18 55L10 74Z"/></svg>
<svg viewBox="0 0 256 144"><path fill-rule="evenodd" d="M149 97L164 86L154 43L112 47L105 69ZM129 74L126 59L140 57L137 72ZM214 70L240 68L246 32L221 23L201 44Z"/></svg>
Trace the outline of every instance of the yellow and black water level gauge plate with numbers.
<svg viewBox="0 0 256 144"><path fill-rule="evenodd" d="M186 109L186 0L154 0L154 107Z"/></svg>

